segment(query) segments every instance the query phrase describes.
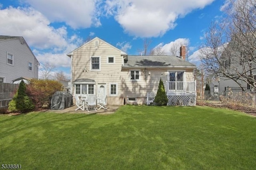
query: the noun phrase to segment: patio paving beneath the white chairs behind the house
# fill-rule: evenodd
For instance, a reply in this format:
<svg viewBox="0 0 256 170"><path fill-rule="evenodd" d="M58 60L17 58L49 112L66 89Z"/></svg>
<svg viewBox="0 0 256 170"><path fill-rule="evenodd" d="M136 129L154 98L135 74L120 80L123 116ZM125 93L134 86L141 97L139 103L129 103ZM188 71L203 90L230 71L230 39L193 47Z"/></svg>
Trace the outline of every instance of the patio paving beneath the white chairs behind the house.
<svg viewBox="0 0 256 170"><path fill-rule="evenodd" d="M119 106L118 105L109 105L107 106L108 108L106 110L100 109L97 111L82 111L81 109L75 110L77 108L76 105L73 105L71 107L65 108L63 110L46 110L45 112L55 112L55 113L85 113L85 114L112 114L114 113Z"/></svg>

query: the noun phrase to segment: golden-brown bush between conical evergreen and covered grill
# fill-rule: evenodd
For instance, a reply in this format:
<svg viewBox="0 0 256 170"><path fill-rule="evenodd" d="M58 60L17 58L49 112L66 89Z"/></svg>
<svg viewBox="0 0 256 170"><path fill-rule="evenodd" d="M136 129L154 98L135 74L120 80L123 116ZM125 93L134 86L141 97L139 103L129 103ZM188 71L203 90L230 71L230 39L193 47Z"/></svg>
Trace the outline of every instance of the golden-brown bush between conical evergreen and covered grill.
<svg viewBox="0 0 256 170"><path fill-rule="evenodd" d="M63 91L62 84L56 80L32 79L27 85L27 93L36 109L50 107L50 99L56 91Z"/></svg>

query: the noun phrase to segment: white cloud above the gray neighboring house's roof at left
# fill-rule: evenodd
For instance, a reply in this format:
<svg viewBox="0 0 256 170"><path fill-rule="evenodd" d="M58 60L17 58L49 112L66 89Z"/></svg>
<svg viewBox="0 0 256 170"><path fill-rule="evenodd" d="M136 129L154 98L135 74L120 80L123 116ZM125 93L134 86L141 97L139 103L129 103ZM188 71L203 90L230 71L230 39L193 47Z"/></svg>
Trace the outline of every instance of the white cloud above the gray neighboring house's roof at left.
<svg viewBox="0 0 256 170"><path fill-rule="evenodd" d="M50 21L33 8L0 10L0 34L22 36L38 49L67 46L66 27L51 27Z"/></svg>

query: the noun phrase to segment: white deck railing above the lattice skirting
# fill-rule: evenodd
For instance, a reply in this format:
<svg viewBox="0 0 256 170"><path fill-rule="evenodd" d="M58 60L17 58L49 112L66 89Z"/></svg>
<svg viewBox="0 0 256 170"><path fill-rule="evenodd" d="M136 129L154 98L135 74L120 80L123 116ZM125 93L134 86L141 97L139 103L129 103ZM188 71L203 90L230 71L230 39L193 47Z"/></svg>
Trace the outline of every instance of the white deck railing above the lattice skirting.
<svg viewBox="0 0 256 170"><path fill-rule="evenodd" d="M166 81L166 92L196 92L196 82Z"/></svg>

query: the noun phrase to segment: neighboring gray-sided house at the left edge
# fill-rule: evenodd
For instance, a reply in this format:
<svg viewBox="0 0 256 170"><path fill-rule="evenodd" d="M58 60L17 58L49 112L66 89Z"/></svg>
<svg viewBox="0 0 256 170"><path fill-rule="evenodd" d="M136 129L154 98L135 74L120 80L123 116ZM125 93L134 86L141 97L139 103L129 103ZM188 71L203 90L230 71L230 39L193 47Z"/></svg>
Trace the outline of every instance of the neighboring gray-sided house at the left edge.
<svg viewBox="0 0 256 170"><path fill-rule="evenodd" d="M0 35L0 82L38 78L39 62L23 37Z"/></svg>

